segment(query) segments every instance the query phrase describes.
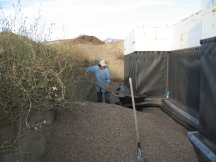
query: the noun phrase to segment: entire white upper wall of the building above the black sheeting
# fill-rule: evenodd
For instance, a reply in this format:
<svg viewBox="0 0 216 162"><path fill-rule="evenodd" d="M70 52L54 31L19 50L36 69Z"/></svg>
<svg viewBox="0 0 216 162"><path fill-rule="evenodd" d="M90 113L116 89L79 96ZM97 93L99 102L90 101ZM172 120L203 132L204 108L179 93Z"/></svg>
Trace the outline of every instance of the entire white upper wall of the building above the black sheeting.
<svg viewBox="0 0 216 162"><path fill-rule="evenodd" d="M168 25L139 25L125 39L125 55L134 51L171 51L200 46L216 36L216 0L202 0L202 10Z"/></svg>

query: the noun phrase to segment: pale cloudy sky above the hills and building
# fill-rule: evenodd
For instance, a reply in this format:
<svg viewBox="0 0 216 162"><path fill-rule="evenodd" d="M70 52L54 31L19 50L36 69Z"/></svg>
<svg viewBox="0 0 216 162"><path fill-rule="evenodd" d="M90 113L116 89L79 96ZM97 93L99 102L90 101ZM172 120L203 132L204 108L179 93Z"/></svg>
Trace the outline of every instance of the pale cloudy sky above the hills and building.
<svg viewBox="0 0 216 162"><path fill-rule="evenodd" d="M201 10L201 0L0 0L0 18L15 17L17 4L20 19L35 23L40 17L51 40L125 39L137 24L172 25Z"/></svg>

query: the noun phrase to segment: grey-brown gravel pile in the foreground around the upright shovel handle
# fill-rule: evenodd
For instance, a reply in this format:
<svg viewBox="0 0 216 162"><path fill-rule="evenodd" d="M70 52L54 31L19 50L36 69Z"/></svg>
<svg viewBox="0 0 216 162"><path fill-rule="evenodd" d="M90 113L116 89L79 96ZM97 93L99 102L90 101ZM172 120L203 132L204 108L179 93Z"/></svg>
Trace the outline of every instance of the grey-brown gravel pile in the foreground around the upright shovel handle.
<svg viewBox="0 0 216 162"><path fill-rule="evenodd" d="M56 115L43 162L137 162L132 109L72 102ZM147 108L137 117L148 162L197 161L186 129L160 108Z"/></svg>

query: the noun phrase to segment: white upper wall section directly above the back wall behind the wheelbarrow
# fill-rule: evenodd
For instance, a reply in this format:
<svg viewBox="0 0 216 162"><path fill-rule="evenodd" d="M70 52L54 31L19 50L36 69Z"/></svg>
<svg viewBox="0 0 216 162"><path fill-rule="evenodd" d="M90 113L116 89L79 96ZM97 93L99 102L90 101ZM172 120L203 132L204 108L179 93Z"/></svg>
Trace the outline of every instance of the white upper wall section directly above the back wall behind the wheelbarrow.
<svg viewBox="0 0 216 162"><path fill-rule="evenodd" d="M168 25L139 25L125 39L125 55L134 51L170 51L171 27Z"/></svg>

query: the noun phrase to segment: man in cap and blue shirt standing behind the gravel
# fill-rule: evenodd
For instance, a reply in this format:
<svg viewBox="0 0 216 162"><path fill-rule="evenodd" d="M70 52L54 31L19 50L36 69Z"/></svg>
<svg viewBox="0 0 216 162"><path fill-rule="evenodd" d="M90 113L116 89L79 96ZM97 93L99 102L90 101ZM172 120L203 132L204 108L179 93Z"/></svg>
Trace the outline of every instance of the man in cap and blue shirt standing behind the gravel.
<svg viewBox="0 0 216 162"><path fill-rule="evenodd" d="M109 84L110 71L106 65L105 60L101 60L98 65L91 66L86 69L86 72L93 72L96 79L96 91L97 91L97 102L103 102L103 96L105 97L105 102L110 104L110 92Z"/></svg>

